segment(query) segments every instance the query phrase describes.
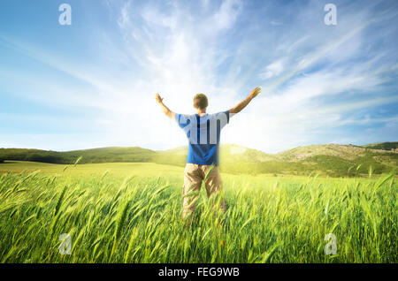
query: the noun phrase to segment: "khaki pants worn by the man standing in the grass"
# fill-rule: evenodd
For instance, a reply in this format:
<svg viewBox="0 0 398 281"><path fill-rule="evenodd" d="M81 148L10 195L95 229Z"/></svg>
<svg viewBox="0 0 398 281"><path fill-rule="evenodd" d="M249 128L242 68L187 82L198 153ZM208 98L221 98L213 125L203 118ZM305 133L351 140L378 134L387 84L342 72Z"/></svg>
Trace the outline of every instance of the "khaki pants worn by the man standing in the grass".
<svg viewBox="0 0 398 281"><path fill-rule="evenodd" d="M182 195L184 196L182 211L183 218L192 215L194 212L203 181L209 198L211 195L220 192L223 183L221 175L219 174L218 166L187 163L184 171L184 186L182 189ZM187 194L188 196L185 196ZM224 198L221 199L220 208L224 212L226 211L226 202L224 201ZM190 219L191 218L192 216Z"/></svg>

